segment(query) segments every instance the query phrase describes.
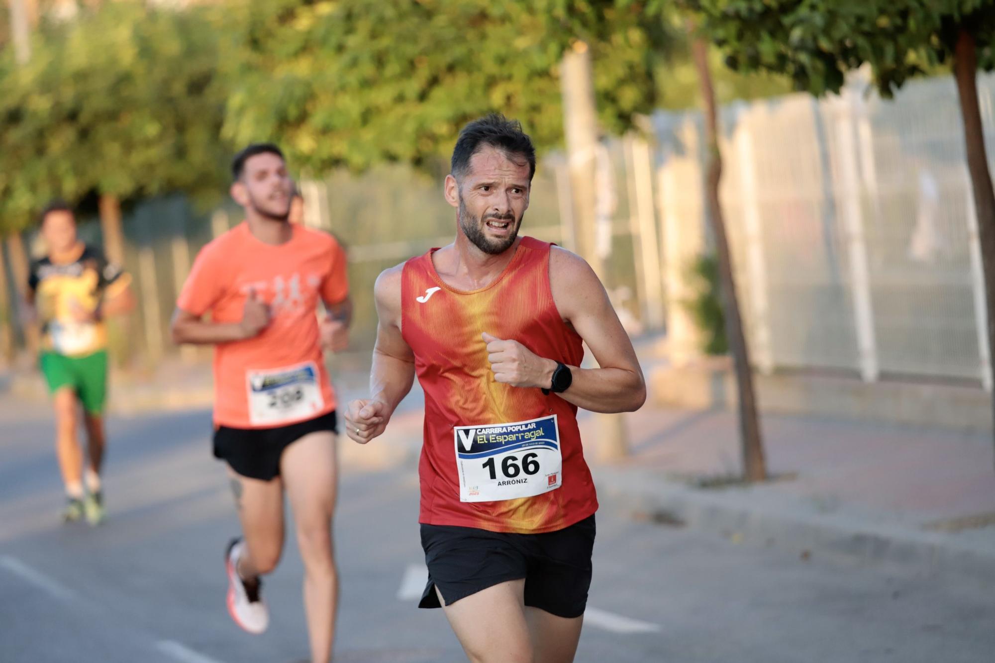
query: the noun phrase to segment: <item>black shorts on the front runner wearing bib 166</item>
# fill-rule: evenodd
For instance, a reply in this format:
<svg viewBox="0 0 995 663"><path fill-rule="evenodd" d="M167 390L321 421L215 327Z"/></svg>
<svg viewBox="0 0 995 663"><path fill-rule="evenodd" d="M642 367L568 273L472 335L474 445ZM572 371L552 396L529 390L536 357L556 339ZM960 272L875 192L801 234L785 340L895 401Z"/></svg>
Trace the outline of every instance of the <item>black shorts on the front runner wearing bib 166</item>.
<svg viewBox="0 0 995 663"><path fill-rule="evenodd" d="M525 578L525 605L559 617L579 617L587 606L594 551L594 516L556 532L504 534L475 528L422 525L429 582L418 607L441 607Z"/></svg>

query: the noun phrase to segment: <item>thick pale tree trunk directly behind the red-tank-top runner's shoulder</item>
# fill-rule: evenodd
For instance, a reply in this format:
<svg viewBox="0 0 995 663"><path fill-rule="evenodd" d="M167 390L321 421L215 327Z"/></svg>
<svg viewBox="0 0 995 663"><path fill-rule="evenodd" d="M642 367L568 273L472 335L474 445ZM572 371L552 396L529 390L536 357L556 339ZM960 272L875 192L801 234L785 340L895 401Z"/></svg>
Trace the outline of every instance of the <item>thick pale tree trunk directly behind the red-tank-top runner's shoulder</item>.
<svg viewBox="0 0 995 663"><path fill-rule="evenodd" d="M591 51L584 42L575 42L563 54L560 67L563 94L563 129L566 134L567 169L574 238L579 253L591 266L602 283L604 264L598 256L595 241L595 167L598 149L598 113L594 101L594 79L591 74ZM618 460L629 455L629 441L622 414L595 415L598 456Z"/></svg>

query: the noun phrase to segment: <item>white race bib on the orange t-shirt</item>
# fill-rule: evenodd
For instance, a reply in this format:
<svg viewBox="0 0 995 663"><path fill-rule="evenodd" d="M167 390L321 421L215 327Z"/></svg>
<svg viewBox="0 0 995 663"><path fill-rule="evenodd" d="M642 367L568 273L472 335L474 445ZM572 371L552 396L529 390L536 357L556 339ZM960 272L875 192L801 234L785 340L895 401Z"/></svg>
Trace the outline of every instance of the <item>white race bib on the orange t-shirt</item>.
<svg viewBox="0 0 995 663"><path fill-rule="evenodd" d="M272 426L317 414L324 406L313 361L284 368L250 370L249 421Z"/></svg>

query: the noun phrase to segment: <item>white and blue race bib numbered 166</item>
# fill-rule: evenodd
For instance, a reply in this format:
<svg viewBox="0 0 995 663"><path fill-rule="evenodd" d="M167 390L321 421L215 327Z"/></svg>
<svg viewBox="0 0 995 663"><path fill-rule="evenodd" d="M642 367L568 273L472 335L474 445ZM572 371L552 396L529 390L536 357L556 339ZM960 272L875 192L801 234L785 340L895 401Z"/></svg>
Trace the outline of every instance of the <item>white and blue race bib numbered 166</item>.
<svg viewBox="0 0 995 663"><path fill-rule="evenodd" d="M460 502L541 495L563 481L556 415L506 424L456 426Z"/></svg>

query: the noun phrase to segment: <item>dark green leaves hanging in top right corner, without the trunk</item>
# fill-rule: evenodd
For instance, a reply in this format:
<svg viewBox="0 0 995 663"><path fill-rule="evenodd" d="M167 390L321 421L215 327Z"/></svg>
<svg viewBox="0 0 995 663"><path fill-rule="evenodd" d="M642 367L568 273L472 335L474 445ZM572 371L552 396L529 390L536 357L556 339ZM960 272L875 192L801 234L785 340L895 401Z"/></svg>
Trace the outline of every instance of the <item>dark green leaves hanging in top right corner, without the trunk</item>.
<svg viewBox="0 0 995 663"><path fill-rule="evenodd" d="M736 71L791 78L796 90L839 92L844 75L870 65L883 97L949 62L968 29L979 67L995 66L990 0L685 0Z"/></svg>

